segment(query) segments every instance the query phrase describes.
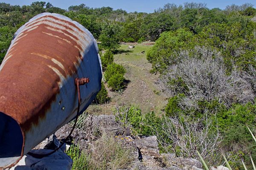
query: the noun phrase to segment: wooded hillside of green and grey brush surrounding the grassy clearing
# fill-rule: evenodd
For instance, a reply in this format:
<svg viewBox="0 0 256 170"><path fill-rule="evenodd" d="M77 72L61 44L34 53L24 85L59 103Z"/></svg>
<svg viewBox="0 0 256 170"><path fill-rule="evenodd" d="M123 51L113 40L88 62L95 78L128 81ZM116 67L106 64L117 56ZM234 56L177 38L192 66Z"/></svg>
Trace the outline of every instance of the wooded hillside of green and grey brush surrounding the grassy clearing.
<svg viewBox="0 0 256 170"><path fill-rule="evenodd" d="M198 150L209 164L223 162L221 151L235 169L242 169L241 158L249 167L250 155L256 160L255 142L247 129L256 132L252 4L222 10L209 9L205 3L168 3L147 14L85 4L61 9L42 1L21 7L0 3L0 63L15 31L42 12L70 17L101 42L105 80L113 93L122 93L128 83L123 76L129 71L113 62L127 52L124 46L119 49L120 42L155 41L146 56L152 64L150 73L159 76L156 84L161 91L154 93L168 96L168 104L161 113L141 114L137 106L113 109L134 134L156 135L163 153L198 158ZM103 98L97 96L97 104L110 100L105 88L100 94Z"/></svg>

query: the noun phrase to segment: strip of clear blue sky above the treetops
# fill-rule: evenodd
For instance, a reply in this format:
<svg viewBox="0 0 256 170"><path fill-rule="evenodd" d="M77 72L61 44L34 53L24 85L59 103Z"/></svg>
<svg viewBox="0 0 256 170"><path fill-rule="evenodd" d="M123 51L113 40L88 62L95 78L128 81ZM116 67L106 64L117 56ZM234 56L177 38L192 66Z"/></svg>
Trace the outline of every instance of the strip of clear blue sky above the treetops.
<svg viewBox="0 0 256 170"><path fill-rule="evenodd" d="M67 9L72 5L84 3L86 6L98 8L110 6L114 9L122 8L128 12L154 12L154 9L163 7L166 3L183 5L184 2L207 3L208 8L224 9L227 5L252 3L255 8L256 0L0 0L0 2L10 3L11 5L30 5L34 1L45 1L52 3L53 6Z"/></svg>

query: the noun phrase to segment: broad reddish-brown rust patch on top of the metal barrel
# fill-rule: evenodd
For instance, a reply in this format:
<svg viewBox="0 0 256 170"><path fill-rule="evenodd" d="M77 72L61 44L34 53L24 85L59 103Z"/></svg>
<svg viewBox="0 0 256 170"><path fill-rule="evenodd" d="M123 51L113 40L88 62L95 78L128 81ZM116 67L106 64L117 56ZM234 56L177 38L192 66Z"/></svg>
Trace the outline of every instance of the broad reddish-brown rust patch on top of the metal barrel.
<svg viewBox="0 0 256 170"><path fill-rule="evenodd" d="M61 37L61 40L65 39L71 43L63 41L63 44L61 44L56 39L56 36L50 36L43 32L55 34ZM40 37L40 40L38 40L38 37ZM0 72L0 77L5 77L5 80L8 80L8 82L5 80L0 82L1 91L10 94L5 102L0 103L0 108L4 108L1 111L17 120L23 131L26 132L32 125L37 125L40 119L44 119L45 113L50 108L51 103L55 101L56 94L59 93L61 79L63 80L67 75L76 73L77 64L81 59L79 57L80 51L75 46L80 47L80 45L64 34L56 31L52 32L45 28L45 24L38 25L36 29L30 30L29 34L20 37L16 42L15 49L19 50L13 50L12 55L19 57L5 59L5 65L3 66L5 69ZM35 56L38 55L41 58L36 59ZM63 60L60 60L60 58ZM35 82L34 80L37 79L38 74L32 74L29 70L46 73L41 77L44 81ZM29 76L27 76L28 74ZM12 75L13 79L8 79L10 75ZM19 76L15 77L15 75ZM27 88L26 84L23 84L25 83L23 81L24 79L26 79L26 82L31 82L30 88ZM47 79L49 81L46 81ZM12 88L9 87L9 84L17 82L20 83L19 86L14 85ZM36 87L39 86L44 88L37 89ZM0 96L3 96L1 91ZM28 94L40 95L27 96ZM24 103L20 105L18 100L23 99ZM39 105L34 102L39 100L42 101ZM12 107L3 107L3 105ZM19 108L19 110L15 108ZM25 113L26 116L22 116ZM24 117L27 117L27 119L24 120Z"/></svg>

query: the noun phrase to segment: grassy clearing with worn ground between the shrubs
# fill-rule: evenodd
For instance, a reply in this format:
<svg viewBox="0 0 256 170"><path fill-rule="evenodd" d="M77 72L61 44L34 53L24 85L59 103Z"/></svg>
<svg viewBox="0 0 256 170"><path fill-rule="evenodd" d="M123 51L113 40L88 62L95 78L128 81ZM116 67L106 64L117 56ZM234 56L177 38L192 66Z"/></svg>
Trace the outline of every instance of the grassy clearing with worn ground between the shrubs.
<svg viewBox="0 0 256 170"><path fill-rule="evenodd" d="M121 45L115 52L114 62L123 65L127 73L125 79L128 85L122 93L108 89L111 102L103 105L91 105L87 112L90 114L112 114L111 108L125 105L139 105L143 114L155 111L163 113L167 101L160 88L155 84L158 75L149 73L151 64L146 59L146 54L151 48L149 45L138 44L135 48ZM142 51L145 51L144 54ZM105 84L105 86L107 86Z"/></svg>

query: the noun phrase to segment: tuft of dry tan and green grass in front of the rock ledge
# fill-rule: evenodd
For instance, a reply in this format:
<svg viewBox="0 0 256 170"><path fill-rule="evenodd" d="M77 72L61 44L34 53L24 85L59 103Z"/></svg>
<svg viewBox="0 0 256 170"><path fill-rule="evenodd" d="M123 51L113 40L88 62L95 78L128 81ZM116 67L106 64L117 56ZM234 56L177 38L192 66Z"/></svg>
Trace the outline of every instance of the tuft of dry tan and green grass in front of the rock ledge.
<svg viewBox="0 0 256 170"><path fill-rule="evenodd" d="M102 130L102 136L87 150L71 147L67 154L73 159L73 170L117 170L131 166L134 151L134 147L124 145L113 134Z"/></svg>

